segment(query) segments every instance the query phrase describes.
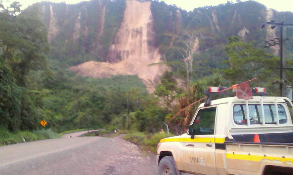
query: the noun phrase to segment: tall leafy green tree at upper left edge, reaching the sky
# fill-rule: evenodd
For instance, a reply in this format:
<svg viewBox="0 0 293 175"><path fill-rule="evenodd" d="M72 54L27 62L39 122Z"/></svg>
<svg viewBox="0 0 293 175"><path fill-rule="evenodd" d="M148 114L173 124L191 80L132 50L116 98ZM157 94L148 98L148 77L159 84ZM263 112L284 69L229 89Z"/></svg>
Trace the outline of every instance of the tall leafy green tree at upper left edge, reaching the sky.
<svg viewBox="0 0 293 175"><path fill-rule="evenodd" d="M38 18L38 11L22 12L18 20L14 20L18 5L11 5L12 15L7 10L0 12L0 54L11 67L17 84L24 87L25 76L31 70L46 68L49 44L47 29Z"/></svg>

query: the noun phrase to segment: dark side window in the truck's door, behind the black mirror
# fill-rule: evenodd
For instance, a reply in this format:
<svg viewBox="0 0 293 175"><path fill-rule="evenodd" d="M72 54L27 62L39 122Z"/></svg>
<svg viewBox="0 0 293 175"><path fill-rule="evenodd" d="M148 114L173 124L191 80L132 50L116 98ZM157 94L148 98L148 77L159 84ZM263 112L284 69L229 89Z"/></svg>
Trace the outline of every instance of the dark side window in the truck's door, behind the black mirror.
<svg viewBox="0 0 293 175"><path fill-rule="evenodd" d="M216 107L199 110L191 126L195 135L214 134L215 118Z"/></svg>

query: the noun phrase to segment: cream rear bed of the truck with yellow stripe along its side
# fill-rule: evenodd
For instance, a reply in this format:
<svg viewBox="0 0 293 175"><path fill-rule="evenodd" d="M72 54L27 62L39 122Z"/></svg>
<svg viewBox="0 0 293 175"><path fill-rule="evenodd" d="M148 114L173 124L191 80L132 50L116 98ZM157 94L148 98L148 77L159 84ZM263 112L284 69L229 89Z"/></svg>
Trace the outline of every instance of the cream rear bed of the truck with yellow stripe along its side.
<svg viewBox="0 0 293 175"><path fill-rule="evenodd" d="M280 133L281 134L281 133ZM281 134L282 135L282 134ZM285 134L287 135L287 134ZM283 135L284 136L284 135ZM248 137L248 136L247 136ZM237 137L234 137L237 138ZM250 138L250 137L249 137ZM263 137L262 137L263 138ZM268 137L270 138L270 137ZM251 139L251 138L250 138ZM292 138L285 139L289 141ZM260 137L261 140L261 137ZM272 138L269 141L282 141ZM283 142L255 143L226 141L226 164L230 174L262 174L272 167L293 168L293 144ZM285 170L282 169L282 170Z"/></svg>

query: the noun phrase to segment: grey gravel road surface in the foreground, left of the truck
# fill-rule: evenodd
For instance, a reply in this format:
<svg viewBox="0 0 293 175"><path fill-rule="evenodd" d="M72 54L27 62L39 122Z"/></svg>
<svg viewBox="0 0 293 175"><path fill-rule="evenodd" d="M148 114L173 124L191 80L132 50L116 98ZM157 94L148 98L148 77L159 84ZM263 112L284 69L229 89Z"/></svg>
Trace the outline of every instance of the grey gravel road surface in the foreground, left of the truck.
<svg viewBox="0 0 293 175"><path fill-rule="evenodd" d="M157 174L154 154L121 136L72 137L0 147L0 174Z"/></svg>

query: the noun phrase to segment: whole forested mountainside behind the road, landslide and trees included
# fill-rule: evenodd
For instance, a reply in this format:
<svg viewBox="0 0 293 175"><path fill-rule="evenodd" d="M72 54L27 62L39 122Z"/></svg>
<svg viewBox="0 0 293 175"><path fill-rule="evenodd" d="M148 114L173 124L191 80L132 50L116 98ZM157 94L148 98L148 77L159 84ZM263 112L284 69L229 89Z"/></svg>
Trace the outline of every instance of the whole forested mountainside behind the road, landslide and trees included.
<svg viewBox="0 0 293 175"><path fill-rule="evenodd" d="M263 46L277 43L280 29L260 26L293 23L293 13L254 1L189 12L137 0L40 2L19 15L19 3L0 8L0 125L13 132L39 129L42 119L55 132L156 132L207 86L254 77L253 85L279 94L279 72L269 67L279 66L280 48ZM292 29L286 34L290 67ZM170 123L173 132L184 130L194 109Z"/></svg>

